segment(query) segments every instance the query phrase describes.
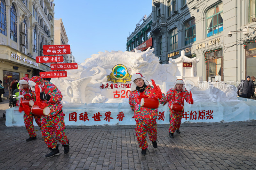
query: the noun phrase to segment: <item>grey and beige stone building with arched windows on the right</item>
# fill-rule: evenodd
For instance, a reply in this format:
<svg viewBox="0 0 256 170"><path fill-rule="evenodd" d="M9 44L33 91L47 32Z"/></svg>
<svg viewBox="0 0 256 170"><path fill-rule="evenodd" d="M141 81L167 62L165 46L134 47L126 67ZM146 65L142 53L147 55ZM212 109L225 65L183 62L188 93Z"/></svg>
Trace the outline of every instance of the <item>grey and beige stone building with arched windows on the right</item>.
<svg viewBox="0 0 256 170"><path fill-rule="evenodd" d="M237 84L255 77L255 9L255 0L153 0L154 54L169 63L185 50L200 59L196 76L205 81Z"/></svg>

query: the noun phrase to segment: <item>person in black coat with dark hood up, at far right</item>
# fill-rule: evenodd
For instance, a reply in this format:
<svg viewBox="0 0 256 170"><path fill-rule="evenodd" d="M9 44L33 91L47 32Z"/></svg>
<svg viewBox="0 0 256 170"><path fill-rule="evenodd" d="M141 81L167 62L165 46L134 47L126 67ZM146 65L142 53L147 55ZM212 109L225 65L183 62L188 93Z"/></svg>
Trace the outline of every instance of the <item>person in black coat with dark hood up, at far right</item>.
<svg viewBox="0 0 256 170"><path fill-rule="evenodd" d="M250 79L250 76L246 76L246 80L241 80L241 84L236 92L239 97L250 99L253 95L253 84L250 82Z"/></svg>

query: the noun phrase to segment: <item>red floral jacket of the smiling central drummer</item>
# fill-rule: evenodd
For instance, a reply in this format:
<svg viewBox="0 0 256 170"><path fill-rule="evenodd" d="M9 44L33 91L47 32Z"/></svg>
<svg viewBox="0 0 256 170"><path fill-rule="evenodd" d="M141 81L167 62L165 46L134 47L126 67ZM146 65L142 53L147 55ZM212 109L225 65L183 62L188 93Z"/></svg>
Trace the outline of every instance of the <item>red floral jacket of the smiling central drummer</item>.
<svg viewBox="0 0 256 170"><path fill-rule="evenodd" d="M148 85L144 92L142 94L147 95L149 98L156 98L156 93L154 92L153 86ZM129 96L129 104L130 107L132 108L132 111L134 112L134 119L135 120L145 120L145 119L154 119L158 115L158 110L156 109L151 109L151 108L146 108L146 107L141 107L140 106L140 101L138 97L140 96L140 92L138 90L134 90L131 92ZM165 94L162 93L162 98L158 99L160 104L163 104L165 101Z"/></svg>

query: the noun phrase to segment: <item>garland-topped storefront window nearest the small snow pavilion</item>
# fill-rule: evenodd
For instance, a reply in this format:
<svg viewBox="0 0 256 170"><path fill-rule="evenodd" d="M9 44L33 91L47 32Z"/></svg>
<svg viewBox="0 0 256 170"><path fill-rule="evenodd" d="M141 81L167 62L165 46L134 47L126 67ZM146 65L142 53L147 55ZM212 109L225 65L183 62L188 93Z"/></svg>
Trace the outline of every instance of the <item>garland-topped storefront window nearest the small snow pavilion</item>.
<svg viewBox="0 0 256 170"><path fill-rule="evenodd" d="M223 81L222 49L206 53L206 79L211 82Z"/></svg>

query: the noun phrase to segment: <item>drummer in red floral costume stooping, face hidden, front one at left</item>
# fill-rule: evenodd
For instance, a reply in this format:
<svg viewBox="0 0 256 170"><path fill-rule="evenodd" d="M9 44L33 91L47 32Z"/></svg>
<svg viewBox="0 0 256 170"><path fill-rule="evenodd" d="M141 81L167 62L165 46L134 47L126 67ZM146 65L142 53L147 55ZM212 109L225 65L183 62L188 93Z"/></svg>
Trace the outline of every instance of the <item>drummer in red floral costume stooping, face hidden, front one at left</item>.
<svg viewBox="0 0 256 170"><path fill-rule="evenodd" d="M62 94L60 90L51 82L45 81L39 76L34 76L31 81L28 82L31 86L31 90L36 92L36 105L41 109L44 107L50 107L50 114L42 116L41 129L44 142L51 150L49 154L46 154L46 158L59 155L56 139L64 146L64 153L69 152L69 141L65 135L65 123L64 114L62 112ZM56 136L56 139L54 137Z"/></svg>

